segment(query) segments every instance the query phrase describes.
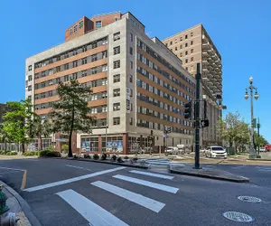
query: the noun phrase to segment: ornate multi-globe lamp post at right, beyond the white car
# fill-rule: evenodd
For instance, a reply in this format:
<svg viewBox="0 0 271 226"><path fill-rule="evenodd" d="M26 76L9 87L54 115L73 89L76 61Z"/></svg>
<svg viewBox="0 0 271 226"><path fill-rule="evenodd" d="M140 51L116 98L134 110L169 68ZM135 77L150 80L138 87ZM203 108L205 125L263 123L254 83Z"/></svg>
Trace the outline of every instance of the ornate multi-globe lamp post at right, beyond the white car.
<svg viewBox="0 0 271 226"><path fill-rule="evenodd" d="M253 126L253 94L254 98L258 99L258 93L257 93L257 88L253 86L253 78L249 78L249 87L246 89L246 94L244 96L245 99L249 98L248 95L248 89L250 89L250 111L251 111L251 127L250 127L250 150L249 150L249 158L257 158L259 155L257 155L257 151L254 148L254 143L253 143L253 137L254 137L254 126Z"/></svg>

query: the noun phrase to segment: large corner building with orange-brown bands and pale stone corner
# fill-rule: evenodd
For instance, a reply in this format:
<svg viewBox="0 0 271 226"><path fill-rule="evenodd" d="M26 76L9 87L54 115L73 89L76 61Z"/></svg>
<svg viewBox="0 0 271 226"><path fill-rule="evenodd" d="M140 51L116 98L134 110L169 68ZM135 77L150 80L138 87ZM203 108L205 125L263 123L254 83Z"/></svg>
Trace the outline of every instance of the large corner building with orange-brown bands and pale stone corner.
<svg viewBox="0 0 271 226"><path fill-rule="evenodd" d="M168 146L192 145L192 123L183 105L195 97L195 80L182 61L131 13L81 18L65 32L65 41L26 59L25 96L34 110L48 117L59 99L60 82L77 79L93 90L89 96L92 134L74 134L74 151L101 152L117 146L129 153L164 146L164 127L172 127ZM154 136L154 144L147 138ZM43 139L60 150L65 135Z"/></svg>

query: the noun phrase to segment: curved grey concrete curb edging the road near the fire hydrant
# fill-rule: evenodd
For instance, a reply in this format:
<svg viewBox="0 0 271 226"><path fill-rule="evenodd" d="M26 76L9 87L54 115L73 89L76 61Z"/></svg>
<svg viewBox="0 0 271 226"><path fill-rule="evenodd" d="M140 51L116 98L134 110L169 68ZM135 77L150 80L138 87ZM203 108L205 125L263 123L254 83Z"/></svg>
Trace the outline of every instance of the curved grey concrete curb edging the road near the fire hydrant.
<svg viewBox="0 0 271 226"><path fill-rule="evenodd" d="M31 211L30 206L28 205L28 203L23 199L23 197L17 193L16 191L14 191L13 188L11 188L9 185L5 184L4 182L0 181L1 184L3 184L5 186L5 189L11 193L12 195L14 195L15 199L19 202L22 211L24 212L25 216L27 217L27 219L30 221L30 223L34 226L42 226L41 222L35 217L35 215L33 214L33 212Z"/></svg>

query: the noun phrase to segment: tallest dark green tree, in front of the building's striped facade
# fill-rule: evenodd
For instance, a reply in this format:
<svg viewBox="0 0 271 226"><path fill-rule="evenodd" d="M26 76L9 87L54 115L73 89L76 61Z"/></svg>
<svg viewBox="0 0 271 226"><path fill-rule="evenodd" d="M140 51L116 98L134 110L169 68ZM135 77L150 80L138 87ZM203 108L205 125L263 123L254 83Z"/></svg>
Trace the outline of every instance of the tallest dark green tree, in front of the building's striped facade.
<svg viewBox="0 0 271 226"><path fill-rule="evenodd" d="M72 156L71 137L73 132L90 133L95 118L89 116L87 98L92 93L91 89L83 87L77 80L60 83L57 88L60 100L51 110L53 132L69 134L69 153Z"/></svg>

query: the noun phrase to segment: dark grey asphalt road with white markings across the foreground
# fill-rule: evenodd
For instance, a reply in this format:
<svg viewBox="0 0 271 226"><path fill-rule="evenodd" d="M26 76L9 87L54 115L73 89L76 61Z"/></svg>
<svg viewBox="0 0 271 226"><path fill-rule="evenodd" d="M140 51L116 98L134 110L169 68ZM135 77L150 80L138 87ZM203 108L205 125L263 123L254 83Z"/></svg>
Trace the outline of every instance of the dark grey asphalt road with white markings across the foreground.
<svg viewBox="0 0 271 226"><path fill-rule="evenodd" d="M44 226L240 225L223 212L244 212L254 220L249 225L270 225L271 166L218 167L251 174L252 183L57 159L1 160L0 180L23 196ZM262 202L242 202L239 195Z"/></svg>

